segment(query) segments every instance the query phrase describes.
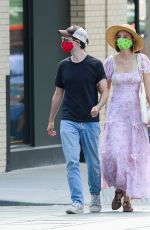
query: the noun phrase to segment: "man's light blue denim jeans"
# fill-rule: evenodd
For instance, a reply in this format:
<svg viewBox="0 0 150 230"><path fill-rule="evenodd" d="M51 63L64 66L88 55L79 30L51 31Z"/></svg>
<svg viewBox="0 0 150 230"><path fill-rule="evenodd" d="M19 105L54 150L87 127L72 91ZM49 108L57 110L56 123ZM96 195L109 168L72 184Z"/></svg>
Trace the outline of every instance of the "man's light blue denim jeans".
<svg viewBox="0 0 150 230"><path fill-rule="evenodd" d="M100 194L101 175L98 154L100 127L99 122L74 122L62 120L60 135L67 163L67 178L71 200L84 203L79 169L80 143L88 168L88 185L91 195Z"/></svg>

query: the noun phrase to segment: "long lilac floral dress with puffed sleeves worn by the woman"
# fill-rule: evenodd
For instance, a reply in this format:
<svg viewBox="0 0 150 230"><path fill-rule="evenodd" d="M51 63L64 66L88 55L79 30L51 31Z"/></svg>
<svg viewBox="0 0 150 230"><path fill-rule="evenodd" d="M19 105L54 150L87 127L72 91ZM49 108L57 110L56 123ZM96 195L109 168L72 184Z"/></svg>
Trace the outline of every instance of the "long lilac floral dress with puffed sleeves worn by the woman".
<svg viewBox="0 0 150 230"><path fill-rule="evenodd" d="M150 197L150 144L138 96L140 73L150 73L150 60L139 55L142 67L131 73L116 72L112 56L104 62L113 94L100 143L102 187L122 189L131 198Z"/></svg>

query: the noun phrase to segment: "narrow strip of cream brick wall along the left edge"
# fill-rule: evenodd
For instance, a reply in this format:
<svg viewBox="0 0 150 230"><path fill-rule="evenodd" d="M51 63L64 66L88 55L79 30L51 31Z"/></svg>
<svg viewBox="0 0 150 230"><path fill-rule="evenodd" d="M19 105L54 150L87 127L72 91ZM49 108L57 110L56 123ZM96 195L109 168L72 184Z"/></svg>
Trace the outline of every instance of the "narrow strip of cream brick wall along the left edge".
<svg viewBox="0 0 150 230"><path fill-rule="evenodd" d="M6 169L6 75L9 73L9 1L0 0L0 172Z"/></svg>

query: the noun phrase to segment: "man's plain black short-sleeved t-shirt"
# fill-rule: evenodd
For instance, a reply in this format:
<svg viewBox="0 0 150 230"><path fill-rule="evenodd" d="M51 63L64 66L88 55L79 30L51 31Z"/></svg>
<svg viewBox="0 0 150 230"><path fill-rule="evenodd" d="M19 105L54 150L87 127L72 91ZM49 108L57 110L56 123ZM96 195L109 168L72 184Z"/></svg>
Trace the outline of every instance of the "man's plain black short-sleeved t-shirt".
<svg viewBox="0 0 150 230"><path fill-rule="evenodd" d="M91 109L98 103L96 84L106 78L103 64L87 55L74 63L68 57L58 66L55 85L65 90L62 119L77 122L99 121L99 116L91 117Z"/></svg>

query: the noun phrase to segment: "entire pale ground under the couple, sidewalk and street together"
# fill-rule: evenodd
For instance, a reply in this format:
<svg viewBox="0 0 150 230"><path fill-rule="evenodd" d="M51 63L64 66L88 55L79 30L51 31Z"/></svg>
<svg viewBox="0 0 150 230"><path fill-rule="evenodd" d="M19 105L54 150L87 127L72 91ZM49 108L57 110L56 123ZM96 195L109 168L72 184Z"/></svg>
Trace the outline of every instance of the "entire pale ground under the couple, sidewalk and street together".
<svg viewBox="0 0 150 230"><path fill-rule="evenodd" d="M67 215L70 196L65 165L0 174L0 229L11 230L150 230L149 200L134 201L133 213L112 211L113 190L102 191L102 212L90 214L86 164L81 164L84 214ZM2 205L7 206L2 206Z"/></svg>

